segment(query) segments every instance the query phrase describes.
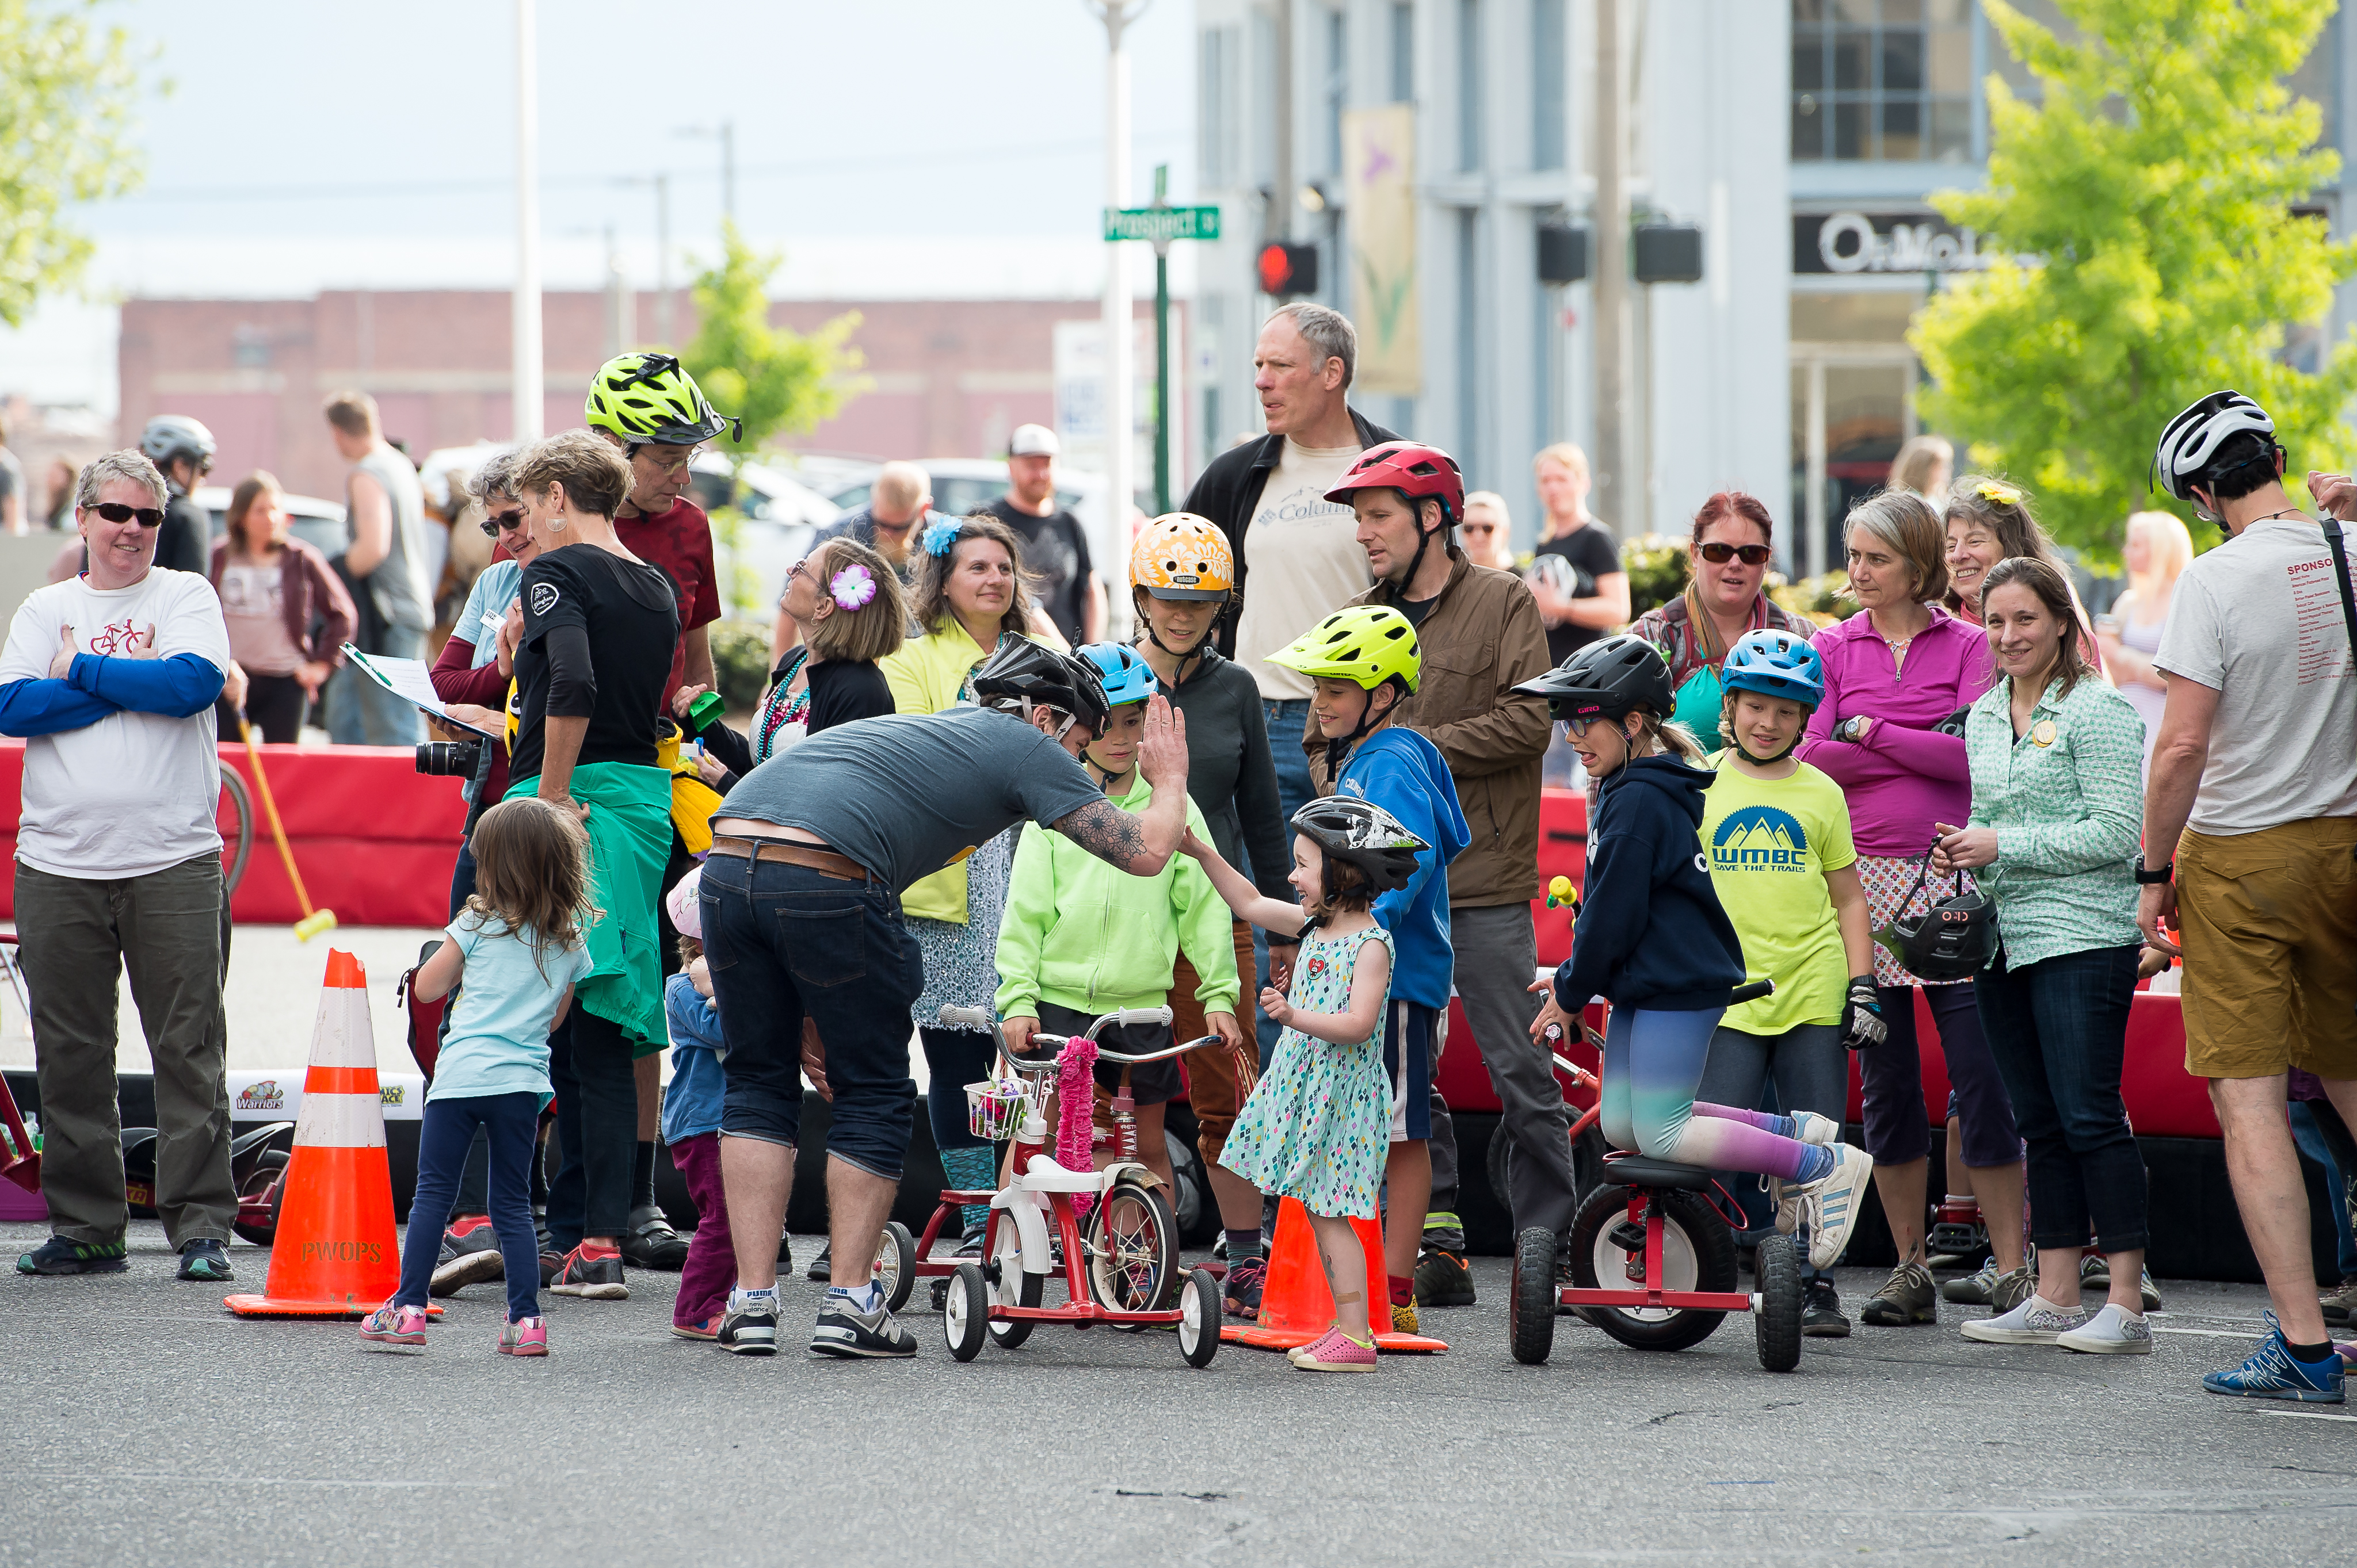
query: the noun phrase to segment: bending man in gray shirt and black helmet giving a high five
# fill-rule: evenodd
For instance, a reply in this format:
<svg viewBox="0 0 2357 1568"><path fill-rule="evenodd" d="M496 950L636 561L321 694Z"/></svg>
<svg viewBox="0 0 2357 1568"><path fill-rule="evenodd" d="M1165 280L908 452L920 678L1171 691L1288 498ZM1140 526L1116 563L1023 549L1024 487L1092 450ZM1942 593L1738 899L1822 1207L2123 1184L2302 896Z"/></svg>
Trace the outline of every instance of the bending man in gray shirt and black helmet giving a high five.
<svg viewBox="0 0 2357 1568"><path fill-rule="evenodd" d="M874 1257L900 1187L917 1085L910 1003L924 975L900 890L1025 817L1091 855L1157 876L1186 838L1186 720L1160 697L1129 815L1080 768L1108 716L1087 659L1009 640L973 673L981 709L863 718L761 763L712 819L700 911L728 1055L721 1180L738 1288L719 1342L778 1347L778 1229L801 1140L801 1019L827 1043L827 1210L834 1257ZM936 1083L936 1095L957 1085ZM754 1243L757 1236L771 1241ZM837 1285L811 1349L912 1356L872 1281Z"/></svg>

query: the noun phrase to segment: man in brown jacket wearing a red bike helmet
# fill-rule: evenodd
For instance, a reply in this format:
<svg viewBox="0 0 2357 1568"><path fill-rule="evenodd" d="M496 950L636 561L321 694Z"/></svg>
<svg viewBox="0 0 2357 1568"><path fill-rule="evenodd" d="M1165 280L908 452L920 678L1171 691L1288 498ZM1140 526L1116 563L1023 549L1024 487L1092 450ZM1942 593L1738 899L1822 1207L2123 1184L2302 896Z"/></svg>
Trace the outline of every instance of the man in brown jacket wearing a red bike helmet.
<svg viewBox="0 0 2357 1568"><path fill-rule="evenodd" d="M1473 565L1457 546L1464 478L1438 447L1369 447L1327 494L1358 513L1358 544L1374 586L1353 605L1391 605L1417 629L1424 678L1400 718L1447 758L1473 843L1450 862L1450 946L1457 998L1480 1041L1513 1142L1513 1229L1572 1227L1570 1116L1546 1052L1530 1041L1539 968L1530 899L1539 895L1539 758L1546 704L1516 683L1549 669L1546 624L1520 577ZM1327 744L1310 723L1303 746L1320 796L1334 791ZM1457 1220L1457 1135L1433 1090L1433 1201L1424 1220L1417 1302L1473 1302Z"/></svg>

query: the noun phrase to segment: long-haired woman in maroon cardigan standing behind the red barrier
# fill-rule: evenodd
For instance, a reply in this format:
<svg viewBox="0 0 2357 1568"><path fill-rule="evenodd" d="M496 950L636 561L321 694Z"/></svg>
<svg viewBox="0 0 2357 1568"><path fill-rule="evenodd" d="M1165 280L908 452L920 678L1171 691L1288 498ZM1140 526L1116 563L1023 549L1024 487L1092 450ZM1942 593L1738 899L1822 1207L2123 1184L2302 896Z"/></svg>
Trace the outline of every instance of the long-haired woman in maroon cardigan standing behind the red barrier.
<svg viewBox="0 0 2357 1568"><path fill-rule="evenodd" d="M207 577L229 622L229 657L245 671L245 713L262 739L292 746L304 706L344 662L356 624L351 593L325 556L288 534L285 494L262 471L229 497L229 532L212 542ZM238 709L226 697L219 723L222 739L238 735Z"/></svg>

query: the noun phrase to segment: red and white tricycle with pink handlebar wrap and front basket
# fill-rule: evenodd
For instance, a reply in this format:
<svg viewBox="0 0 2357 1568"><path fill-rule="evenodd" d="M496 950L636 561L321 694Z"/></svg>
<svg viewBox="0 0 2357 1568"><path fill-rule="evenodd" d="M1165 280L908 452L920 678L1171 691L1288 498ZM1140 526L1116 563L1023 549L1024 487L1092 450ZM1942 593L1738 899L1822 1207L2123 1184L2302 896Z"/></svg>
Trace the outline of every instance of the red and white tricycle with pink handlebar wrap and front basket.
<svg viewBox="0 0 2357 1568"><path fill-rule="evenodd" d="M985 1008L940 1010L943 1026L985 1026L997 1041L1002 1074L969 1083L966 1107L976 1137L1014 1140L1009 1182L1002 1191L988 1194L983 1262L959 1262L950 1271L940 1321L955 1358L973 1361L983 1340L1016 1349L1039 1323L1176 1326L1178 1354L1188 1366L1209 1366L1219 1354L1219 1283L1204 1269L1178 1274L1178 1220L1162 1196L1162 1180L1136 1158L1136 1118L1122 1114L1127 1071L1124 1092L1115 1102L1113 1163L1103 1170L1058 1165L1042 1114L1049 1081L1075 1043L1094 1045L1110 1024L1153 1026L1169 1019L1169 1008L1108 1012L1080 1036L1035 1034L1032 1045L1054 1055L1025 1059L1006 1050L1006 1036ZM1219 1038L1204 1036L1141 1055L1098 1050L1098 1059L1127 1069L1200 1045L1219 1045ZM1063 1099L1058 1121L1087 1128L1091 1095ZM943 1194L943 1208L950 1208L952 1198L978 1203L983 1194ZM1087 1217L1080 1215L1075 1198L1091 1198ZM936 1236L940 1224L943 1217L936 1212L926 1238ZM1065 1274L1065 1300L1056 1307L1044 1304L1049 1274L1056 1271L1051 1234L1063 1248Z"/></svg>

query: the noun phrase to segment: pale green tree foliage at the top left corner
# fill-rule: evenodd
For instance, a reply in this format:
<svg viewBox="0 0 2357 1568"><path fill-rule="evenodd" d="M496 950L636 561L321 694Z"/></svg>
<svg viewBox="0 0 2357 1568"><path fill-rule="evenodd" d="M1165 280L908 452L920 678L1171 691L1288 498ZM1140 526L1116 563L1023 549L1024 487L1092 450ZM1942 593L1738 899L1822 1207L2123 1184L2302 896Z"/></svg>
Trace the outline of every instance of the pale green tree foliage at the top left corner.
<svg viewBox="0 0 2357 1568"><path fill-rule="evenodd" d="M130 33L97 26L94 9L0 0L0 320L12 327L90 264L66 202L120 195L141 177Z"/></svg>

